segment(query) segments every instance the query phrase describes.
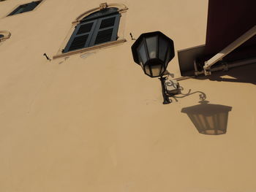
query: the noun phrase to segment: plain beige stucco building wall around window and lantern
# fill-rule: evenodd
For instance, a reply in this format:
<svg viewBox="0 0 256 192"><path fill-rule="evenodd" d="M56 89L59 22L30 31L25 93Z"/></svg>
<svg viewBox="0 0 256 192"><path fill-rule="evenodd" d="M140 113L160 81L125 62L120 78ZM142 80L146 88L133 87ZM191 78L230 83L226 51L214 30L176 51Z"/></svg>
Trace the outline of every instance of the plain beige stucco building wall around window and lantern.
<svg viewBox="0 0 256 192"><path fill-rule="evenodd" d="M127 42L53 61L42 54L102 1L45 0L5 17L25 2L0 2L0 31L12 34L0 44L0 191L256 191L255 85L181 81L232 107L227 134L199 134L181 113L199 94L163 105L159 80L132 60L130 32L162 31L176 51L202 45L206 0L111 1L129 8ZM168 71L179 77L177 56Z"/></svg>

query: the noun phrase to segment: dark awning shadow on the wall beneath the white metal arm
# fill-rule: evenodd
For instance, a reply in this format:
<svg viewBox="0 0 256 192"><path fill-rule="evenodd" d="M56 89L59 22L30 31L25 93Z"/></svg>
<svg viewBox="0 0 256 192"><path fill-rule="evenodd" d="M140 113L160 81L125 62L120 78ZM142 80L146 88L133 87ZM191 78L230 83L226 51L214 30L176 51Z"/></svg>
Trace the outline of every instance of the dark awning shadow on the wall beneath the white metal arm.
<svg viewBox="0 0 256 192"><path fill-rule="evenodd" d="M256 64L239 66L227 72L216 72L210 76L197 77L198 80L213 80L222 82L244 82L256 85Z"/></svg>

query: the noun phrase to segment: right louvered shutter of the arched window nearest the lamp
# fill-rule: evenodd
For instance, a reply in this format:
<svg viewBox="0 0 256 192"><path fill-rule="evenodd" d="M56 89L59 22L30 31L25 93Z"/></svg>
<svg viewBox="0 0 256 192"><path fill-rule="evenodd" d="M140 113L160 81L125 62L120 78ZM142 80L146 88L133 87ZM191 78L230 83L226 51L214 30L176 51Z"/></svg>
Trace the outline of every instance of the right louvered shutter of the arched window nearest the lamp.
<svg viewBox="0 0 256 192"><path fill-rule="evenodd" d="M99 18L89 47L104 42L116 41L120 14Z"/></svg>

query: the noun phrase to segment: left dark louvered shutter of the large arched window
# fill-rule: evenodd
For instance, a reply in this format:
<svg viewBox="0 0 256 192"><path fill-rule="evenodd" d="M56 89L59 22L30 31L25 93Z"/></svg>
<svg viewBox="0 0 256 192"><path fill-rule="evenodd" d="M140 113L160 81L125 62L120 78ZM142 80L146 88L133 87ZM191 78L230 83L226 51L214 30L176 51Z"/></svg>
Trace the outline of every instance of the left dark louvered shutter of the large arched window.
<svg viewBox="0 0 256 192"><path fill-rule="evenodd" d="M70 37L67 46L63 50L63 53L89 47L89 42L96 24L97 20L90 20L85 23L79 23L78 26L76 26L72 36Z"/></svg>

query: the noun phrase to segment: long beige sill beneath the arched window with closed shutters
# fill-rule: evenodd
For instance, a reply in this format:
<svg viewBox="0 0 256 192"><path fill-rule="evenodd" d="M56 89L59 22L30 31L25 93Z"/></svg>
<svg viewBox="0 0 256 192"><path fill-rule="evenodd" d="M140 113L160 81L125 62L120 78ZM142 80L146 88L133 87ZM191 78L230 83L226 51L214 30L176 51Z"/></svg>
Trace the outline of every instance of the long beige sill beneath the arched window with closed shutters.
<svg viewBox="0 0 256 192"><path fill-rule="evenodd" d="M68 53L61 53L61 54L58 54L58 55L53 55L53 59L63 58L63 57L67 57L69 55L75 55L75 54L78 54L78 53L84 53L84 52L87 52L87 51L90 51L90 50L97 50L97 49L104 48L104 47L109 47L109 46L112 46L112 45L118 45L118 44L121 44L121 43L126 42L126 41L127 41L126 39L119 39L119 40L116 40L116 41L113 41L113 42L106 42L106 43L102 43L100 45L95 45L93 47L86 47L86 48L83 48L83 49L80 49L80 50L73 50L73 51L69 51Z"/></svg>

